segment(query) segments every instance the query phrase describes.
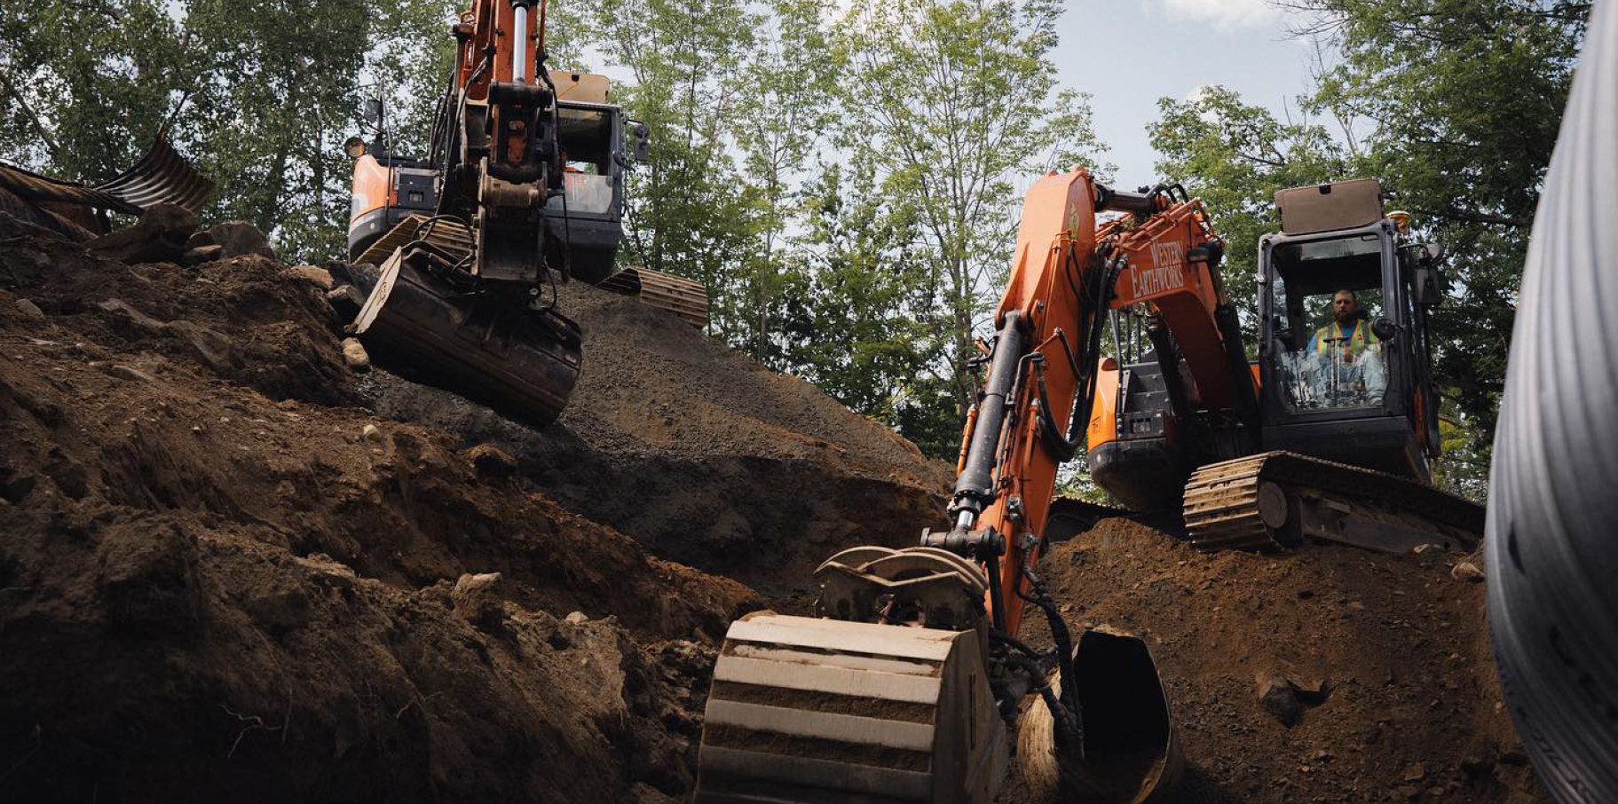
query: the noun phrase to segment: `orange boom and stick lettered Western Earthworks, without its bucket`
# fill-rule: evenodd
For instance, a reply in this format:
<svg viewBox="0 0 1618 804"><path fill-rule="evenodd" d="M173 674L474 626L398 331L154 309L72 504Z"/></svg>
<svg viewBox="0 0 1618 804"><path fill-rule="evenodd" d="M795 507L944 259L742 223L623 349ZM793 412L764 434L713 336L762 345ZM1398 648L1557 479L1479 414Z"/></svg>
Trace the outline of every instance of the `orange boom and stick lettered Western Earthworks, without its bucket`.
<svg viewBox="0 0 1618 804"><path fill-rule="evenodd" d="M1099 212L1118 215L1097 225ZM942 537L929 532L924 544L956 548L993 534L1005 560L977 547L972 553L985 556L1011 597L1031 592L1057 469L1081 446L1094 406L1108 309L1149 307L1184 354L1205 406L1254 411L1241 345L1222 327L1225 315L1235 325L1217 269L1222 251L1202 202L1176 199L1175 188L1116 193L1084 170L1039 180L1027 191L1011 278L995 311L989 377L963 435L953 527ZM1243 361L1239 370L1233 359ZM990 611L1003 633L1018 634L1019 605L992 600Z"/></svg>

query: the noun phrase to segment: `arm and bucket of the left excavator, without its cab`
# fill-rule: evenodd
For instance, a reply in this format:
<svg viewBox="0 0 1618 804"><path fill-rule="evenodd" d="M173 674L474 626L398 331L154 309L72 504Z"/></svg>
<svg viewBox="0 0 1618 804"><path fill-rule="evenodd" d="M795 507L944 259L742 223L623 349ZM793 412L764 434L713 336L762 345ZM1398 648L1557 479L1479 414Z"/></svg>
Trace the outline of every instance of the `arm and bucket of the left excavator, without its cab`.
<svg viewBox="0 0 1618 804"><path fill-rule="evenodd" d="M474 0L450 29L456 66L429 159L385 154L380 134L375 154L356 149L356 225L421 215L380 220L392 249L374 275L354 272L374 286L351 325L382 366L534 425L566 406L582 341L555 304L571 249L545 214L563 165L544 16L544 0Z"/></svg>

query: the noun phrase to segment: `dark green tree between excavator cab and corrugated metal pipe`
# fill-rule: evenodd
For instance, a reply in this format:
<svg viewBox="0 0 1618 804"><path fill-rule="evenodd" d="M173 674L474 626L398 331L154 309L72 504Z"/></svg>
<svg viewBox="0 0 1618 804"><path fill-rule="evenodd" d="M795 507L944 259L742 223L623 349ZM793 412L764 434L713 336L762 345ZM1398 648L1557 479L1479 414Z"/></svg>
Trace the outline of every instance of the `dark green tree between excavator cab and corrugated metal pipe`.
<svg viewBox="0 0 1618 804"><path fill-rule="evenodd" d="M1590 3L1286 0L1340 58L1317 110L1364 131L1362 170L1446 246L1446 395L1487 464L1516 288Z"/></svg>

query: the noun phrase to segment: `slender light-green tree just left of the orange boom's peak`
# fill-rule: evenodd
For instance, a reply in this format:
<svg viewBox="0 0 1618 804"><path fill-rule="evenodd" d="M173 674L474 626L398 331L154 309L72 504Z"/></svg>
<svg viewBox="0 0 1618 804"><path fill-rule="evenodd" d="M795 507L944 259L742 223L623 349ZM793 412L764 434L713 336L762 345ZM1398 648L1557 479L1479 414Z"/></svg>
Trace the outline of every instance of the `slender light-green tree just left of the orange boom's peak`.
<svg viewBox="0 0 1618 804"><path fill-rule="evenodd" d="M1050 0L861 0L843 21L854 89L841 144L870 155L885 197L914 207L948 312L935 370L956 422L976 385L972 336L1014 239L1014 181L1100 150L1086 97L1057 86L1060 13Z"/></svg>

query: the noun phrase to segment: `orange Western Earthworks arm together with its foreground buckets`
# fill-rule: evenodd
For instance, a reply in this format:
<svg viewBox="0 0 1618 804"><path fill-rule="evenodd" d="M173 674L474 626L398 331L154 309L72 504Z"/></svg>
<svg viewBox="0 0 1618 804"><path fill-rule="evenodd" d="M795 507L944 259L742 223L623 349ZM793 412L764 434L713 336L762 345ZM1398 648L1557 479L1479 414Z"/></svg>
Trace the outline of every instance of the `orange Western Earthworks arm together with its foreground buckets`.
<svg viewBox="0 0 1618 804"><path fill-rule="evenodd" d="M1089 417L1108 309L1144 306L1184 333L1202 404L1251 408L1246 366L1226 370L1241 348L1220 320L1220 251L1183 191L1115 193L1084 170L1034 183L948 526L917 547L833 555L815 573L820 618L760 611L731 626L696 801L987 802L1019 721L1016 754L1044 798L1144 802L1173 785L1178 738L1144 642L1071 639L1034 568L1057 469ZM1055 645L1019 639L1024 605Z"/></svg>

